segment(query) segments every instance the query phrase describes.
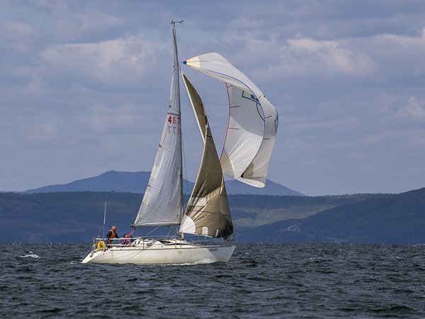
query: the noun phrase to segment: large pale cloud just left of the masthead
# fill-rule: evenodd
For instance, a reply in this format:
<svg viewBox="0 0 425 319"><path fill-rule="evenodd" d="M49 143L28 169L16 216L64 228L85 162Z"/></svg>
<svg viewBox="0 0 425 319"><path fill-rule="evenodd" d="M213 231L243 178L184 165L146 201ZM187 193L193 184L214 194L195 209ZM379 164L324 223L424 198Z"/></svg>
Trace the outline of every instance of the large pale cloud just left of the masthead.
<svg viewBox="0 0 425 319"><path fill-rule="evenodd" d="M40 57L43 71L53 80L134 86L152 71L152 61L163 48L143 35L129 35L100 43L52 45L40 52Z"/></svg>

